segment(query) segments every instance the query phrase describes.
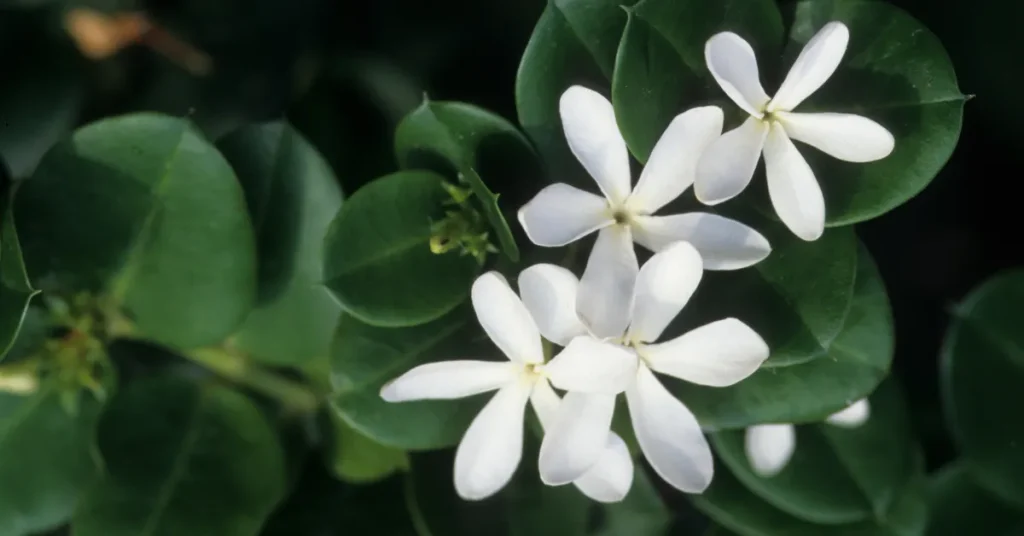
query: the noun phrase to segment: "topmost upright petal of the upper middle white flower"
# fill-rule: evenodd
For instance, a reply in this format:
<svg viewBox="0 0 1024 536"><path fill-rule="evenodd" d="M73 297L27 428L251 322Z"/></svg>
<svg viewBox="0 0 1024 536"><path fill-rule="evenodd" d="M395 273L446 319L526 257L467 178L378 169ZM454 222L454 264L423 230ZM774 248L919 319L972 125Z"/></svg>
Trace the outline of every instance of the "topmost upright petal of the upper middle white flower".
<svg viewBox="0 0 1024 536"><path fill-rule="evenodd" d="M618 132L615 112L604 95L572 86L558 102L565 139L601 192L618 205L630 195L630 155Z"/></svg>

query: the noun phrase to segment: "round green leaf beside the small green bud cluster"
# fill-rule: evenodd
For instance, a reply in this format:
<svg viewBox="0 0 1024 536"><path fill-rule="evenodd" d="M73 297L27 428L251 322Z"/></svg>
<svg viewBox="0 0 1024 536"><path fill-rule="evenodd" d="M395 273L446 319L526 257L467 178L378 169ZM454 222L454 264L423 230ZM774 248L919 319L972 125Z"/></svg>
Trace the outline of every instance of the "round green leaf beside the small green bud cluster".
<svg viewBox="0 0 1024 536"><path fill-rule="evenodd" d="M451 199L442 181L428 171L399 171L341 207L325 239L324 276L345 311L377 326L412 326L466 298L479 264L430 249L431 221Z"/></svg>

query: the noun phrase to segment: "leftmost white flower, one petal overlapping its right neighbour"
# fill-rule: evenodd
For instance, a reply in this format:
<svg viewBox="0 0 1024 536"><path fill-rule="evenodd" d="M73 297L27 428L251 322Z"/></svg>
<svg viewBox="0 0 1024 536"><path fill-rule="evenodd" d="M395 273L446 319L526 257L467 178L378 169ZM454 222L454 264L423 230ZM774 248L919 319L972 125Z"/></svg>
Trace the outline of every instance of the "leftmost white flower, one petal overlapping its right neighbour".
<svg viewBox="0 0 1024 536"><path fill-rule="evenodd" d="M519 285L524 294L544 292L531 289L526 279ZM566 345L563 354L567 358L558 356L545 365L541 331L529 310L545 326L546 335L550 329L559 328L543 324L551 318L550 312L543 308L544 303L535 300L524 305L496 272L477 278L471 299L480 326L509 361L442 361L421 365L385 384L381 398L388 402L459 399L497 389L473 419L456 451L456 491L465 499L478 500L501 490L519 465L527 400L547 430L556 426L554 416L561 403L548 384L549 379L559 388L580 393L621 393L626 388L623 377L635 364L625 349L601 345L589 337L572 339L572 333L562 331L564 336L552 340ZM536 308L539 306L542 308ZM587 361L581 361L581 357ZM595 369L591 370L591 366ZM590 470L573 479L573 484L595 500L622 500L633 483L633 460L625 443L609 431L595 448L599 451L599 462L592 463Z"/></svg>

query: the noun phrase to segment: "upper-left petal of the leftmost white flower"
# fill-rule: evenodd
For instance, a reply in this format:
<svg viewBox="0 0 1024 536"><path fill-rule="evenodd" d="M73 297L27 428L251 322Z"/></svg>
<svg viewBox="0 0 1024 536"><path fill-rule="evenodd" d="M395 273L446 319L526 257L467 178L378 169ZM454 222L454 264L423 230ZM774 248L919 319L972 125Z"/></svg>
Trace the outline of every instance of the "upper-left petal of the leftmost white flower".
<svg viewBox="0 0 1024 536"><path fill-rule="evenodd" d="M476 278L470 294L480 326L506 357L518 363L544 363L541 332L501 274L487 272Z"/></svg>

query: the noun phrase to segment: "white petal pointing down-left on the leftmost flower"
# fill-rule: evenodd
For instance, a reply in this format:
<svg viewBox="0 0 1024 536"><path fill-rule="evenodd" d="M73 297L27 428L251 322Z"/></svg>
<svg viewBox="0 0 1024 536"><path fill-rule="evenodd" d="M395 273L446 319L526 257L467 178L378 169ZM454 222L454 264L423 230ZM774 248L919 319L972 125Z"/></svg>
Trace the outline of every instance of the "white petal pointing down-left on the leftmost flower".
<svg viewBox="0 0 1024 536"><path fill-rule="evenodd" d="M466 429L455 453L455 489L460 497L484 499L512 479L522 457L529 387L524 381L503 387Z"/></svg>

